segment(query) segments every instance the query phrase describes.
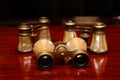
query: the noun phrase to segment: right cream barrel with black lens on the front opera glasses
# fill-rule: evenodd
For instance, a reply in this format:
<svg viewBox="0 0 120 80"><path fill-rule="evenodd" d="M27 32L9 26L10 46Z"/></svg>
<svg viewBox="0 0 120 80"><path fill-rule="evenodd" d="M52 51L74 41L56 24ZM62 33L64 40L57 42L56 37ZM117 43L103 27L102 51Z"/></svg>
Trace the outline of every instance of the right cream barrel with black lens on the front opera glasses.
<svg viewBox="0 0 120 80"><path fill-rule="evenodd" d="M72 64L76 68L87 66L89 62L89 56L87 54L87 44L82 38L72 38L66 45L69 47L69 51L72 52L71 59Z"/></svg>

